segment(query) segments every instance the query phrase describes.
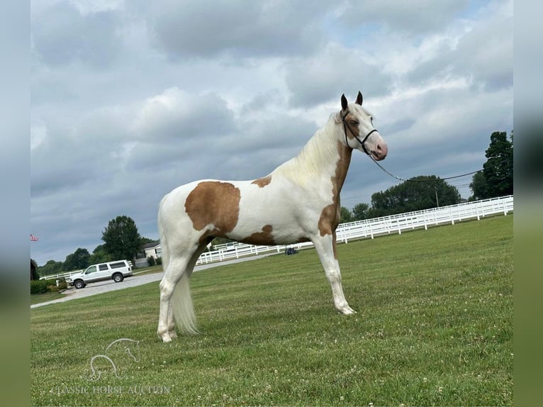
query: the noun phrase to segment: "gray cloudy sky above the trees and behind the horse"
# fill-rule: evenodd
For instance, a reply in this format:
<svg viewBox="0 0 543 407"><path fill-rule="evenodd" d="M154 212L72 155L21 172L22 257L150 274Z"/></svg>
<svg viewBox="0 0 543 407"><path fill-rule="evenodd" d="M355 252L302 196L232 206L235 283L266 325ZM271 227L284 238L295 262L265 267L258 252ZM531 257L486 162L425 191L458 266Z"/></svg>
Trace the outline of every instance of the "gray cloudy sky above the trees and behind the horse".
<svg viewBox="0 0 543 407"><path fill-rule="evenodd" d="M157 239L164 194L268 174L359 90L389 171L480 169L513 128L513 1L31 1L31 257L119 215ZM342 205L398 183L355 152Z"/></svg>

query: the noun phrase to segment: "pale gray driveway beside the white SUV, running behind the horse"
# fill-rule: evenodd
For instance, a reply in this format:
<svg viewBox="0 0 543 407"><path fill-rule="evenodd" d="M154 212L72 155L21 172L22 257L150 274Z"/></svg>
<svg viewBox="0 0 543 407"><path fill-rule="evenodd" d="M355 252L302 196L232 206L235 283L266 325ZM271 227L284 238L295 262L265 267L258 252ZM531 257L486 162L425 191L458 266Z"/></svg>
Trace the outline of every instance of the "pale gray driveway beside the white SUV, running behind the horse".
<svg viewBox="0 0 543 407"><path fill-rule="evenodd" d="M211 269L213 267L220 267L225 264L247 262L249 260L261 259L262 257L273 256L273 255L276 255L276 253L267 253L265 255L243 257L242 259L227 260L224 262L217 262L217 263L211 263L211 264L201 264L200 266L194 267L194 271L197 272L203 269ZM142 284L152 283L154 281L160 281L163 275L164 273L157 272L153 274L144 274L142 276L138 276L138 272L135 272L133 277L128 277L120 283L116 283L113 280L107 280L107 281L100 281L98 283L91 283L87 285L84 289L69 289L65 291L65 296L62 299L45 301L43 303L35 303L35 304L32 304L30 308L46 306L52 303L62 303L64 301L69 301L73 299L82 299L83 297L94 296L96 294L102 294L108 291L128 289L129 287L135 287L135 286L140 286Z"/></svg>

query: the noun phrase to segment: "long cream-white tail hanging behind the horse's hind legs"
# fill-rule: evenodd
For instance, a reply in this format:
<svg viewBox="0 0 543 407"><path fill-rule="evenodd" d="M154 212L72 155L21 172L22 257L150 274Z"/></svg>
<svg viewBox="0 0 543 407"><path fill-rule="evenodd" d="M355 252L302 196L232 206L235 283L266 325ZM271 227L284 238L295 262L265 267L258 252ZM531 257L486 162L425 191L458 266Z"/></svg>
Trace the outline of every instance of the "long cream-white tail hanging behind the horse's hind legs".
<svg viewBox="0 0 543 407"><path fill-rule="evenodd" d="M160 201L159 215L158 215L158 230L160 235L160 246L162 247L162 269L164 273L168 272L168 265L170 262L168 240L166 233L164 233L164 225L162 225L162 204L167 196L164 196ZM170 270L172 272L172 270ZM194 306L192 305L191 289L189 286L190 276L184 272L181 279L177 281L177 284L172 294L170 304L172 305L172 312L174 314L177 326L184 333L196 334L196 316L194 315Z"/></svg>

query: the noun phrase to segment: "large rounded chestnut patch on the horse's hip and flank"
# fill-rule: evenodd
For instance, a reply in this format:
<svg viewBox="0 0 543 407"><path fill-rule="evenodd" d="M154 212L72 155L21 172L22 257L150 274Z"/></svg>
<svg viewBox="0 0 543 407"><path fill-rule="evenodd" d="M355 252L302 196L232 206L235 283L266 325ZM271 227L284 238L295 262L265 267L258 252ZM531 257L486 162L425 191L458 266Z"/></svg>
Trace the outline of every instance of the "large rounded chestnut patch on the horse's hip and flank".
<svg viewBox="0 0 543 407"><path fill-rule="evenodd" d="M240 189L229 182L200 182L186 197L185 211L194 229L213 225L212 233L206 235L224 235L237 225Z"/></svg>

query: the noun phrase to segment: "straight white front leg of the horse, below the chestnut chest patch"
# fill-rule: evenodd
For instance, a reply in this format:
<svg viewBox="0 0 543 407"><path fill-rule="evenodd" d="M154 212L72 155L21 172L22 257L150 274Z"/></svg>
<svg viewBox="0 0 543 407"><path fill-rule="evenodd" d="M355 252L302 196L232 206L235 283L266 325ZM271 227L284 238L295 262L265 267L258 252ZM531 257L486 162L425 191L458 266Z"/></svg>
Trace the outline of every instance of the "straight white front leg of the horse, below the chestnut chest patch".
<svg viewBox="0 0 543 407"><path fill-rule="evenodd" d="M328 281L330 281L335 309L345 315L355 313L356 311L353 311L349 306L345 299L345 294L343 294L340 263L337 262L337 255L335 252L335 233L324 236L318 235L312 240L320 262L323 264L326 277L328 278Z"/></svg>

